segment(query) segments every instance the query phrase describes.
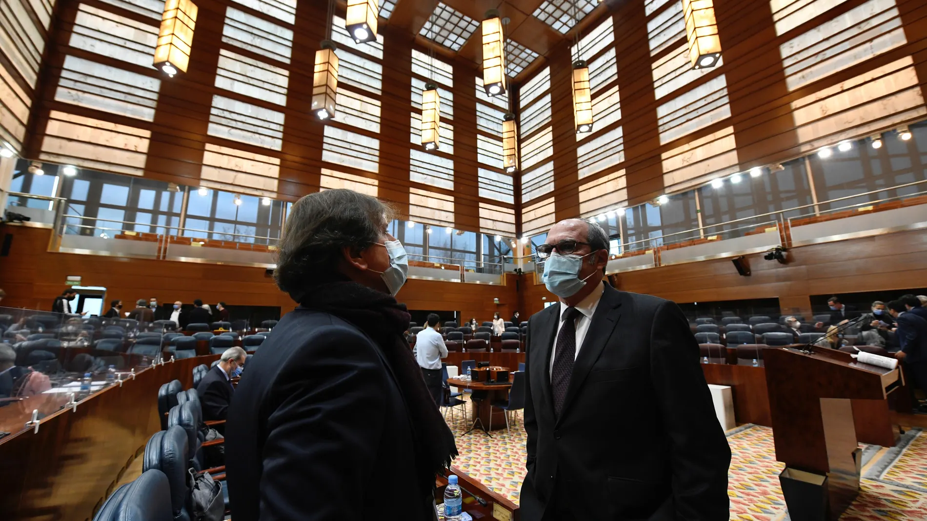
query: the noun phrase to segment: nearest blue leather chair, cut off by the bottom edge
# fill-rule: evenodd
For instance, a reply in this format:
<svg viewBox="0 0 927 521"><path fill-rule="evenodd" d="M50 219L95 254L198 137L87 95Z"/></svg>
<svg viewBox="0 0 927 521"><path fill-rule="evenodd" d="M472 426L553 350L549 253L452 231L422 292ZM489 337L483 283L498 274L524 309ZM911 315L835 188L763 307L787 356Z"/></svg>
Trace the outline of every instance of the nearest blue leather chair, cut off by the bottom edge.
<svg viewBox="0 0 927 521"><path fill-rule="evenodd" d="M157 469L143 472L109 496L94 521L172 521L171 484Z"/></svg>

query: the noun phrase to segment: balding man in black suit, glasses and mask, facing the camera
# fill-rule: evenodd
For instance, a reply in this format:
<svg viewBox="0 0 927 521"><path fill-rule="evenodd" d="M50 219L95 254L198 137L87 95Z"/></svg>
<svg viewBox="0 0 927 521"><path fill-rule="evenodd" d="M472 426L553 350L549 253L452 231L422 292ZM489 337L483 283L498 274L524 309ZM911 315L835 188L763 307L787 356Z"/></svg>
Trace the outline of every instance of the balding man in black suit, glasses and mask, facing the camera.
<svg viewBox="0 0 927 521"><path fill-rule="evenodd" d="M608 248L584 219L537 248L560 302L528 320L522 519L727 520L730 448L689 323L603 284Z"/></svg>

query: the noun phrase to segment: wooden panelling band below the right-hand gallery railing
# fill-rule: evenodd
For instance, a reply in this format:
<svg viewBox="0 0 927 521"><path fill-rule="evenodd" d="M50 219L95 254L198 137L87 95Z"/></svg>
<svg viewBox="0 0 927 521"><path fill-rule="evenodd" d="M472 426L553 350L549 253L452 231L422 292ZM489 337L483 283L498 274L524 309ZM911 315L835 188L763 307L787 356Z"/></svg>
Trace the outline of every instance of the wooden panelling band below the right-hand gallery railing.
<svg viewBox="0 0 927 521"><path fill-rule="evenodd" d="M925 252L927 231L908 231L798 246L789 250L788 265L764 260L763 254L746 255L750 277L738 275L727 258L629 271L614 278L619 290L679 303L775 297L783 314L810 317L810 295L885 292L887 299L899 296L899 290L927 286ZM525 276L523 316L556 300L543 285L534 285L533 277Z"/></svg>

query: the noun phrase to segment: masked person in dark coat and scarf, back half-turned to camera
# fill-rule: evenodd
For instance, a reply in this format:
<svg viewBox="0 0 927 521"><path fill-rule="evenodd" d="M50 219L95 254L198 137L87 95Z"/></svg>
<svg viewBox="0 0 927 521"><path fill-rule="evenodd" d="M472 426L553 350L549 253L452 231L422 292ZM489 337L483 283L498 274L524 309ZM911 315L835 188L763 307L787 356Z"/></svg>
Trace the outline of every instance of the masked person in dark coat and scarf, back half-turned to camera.
<svg viewBox="0 0 927 521"><path fill-rule="evenodd" d="M433 519L457 454L402 333L405 250L390 208L349 190L293 205L277 286L298 304L248 362L225 427L235 519Z"/></svg>

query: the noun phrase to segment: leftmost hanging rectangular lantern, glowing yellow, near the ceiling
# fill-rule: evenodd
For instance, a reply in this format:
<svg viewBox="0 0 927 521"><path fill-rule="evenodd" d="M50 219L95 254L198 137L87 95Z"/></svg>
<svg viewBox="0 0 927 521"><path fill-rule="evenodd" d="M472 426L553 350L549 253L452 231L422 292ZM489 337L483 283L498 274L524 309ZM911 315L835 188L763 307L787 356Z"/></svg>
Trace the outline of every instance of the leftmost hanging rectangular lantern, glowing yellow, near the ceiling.
<svg viewBox="0 0 927 521"><path fill-rule="evenodd" d="M190 65L193 30L197 25L197 5L190 0L167 0L161 15L161 29L155 47L155 68L171 78L186 72Z"/></svg>

